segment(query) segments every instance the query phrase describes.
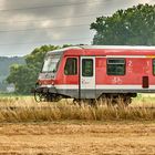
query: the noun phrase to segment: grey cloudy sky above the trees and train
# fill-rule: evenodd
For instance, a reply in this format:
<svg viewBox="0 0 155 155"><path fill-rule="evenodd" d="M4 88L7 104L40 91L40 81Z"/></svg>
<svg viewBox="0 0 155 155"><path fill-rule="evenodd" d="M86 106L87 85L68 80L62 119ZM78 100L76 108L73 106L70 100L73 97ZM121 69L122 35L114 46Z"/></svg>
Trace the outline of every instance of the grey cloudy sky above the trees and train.
<svg viewBox="0 0 155 155"><path fill-rule="evenodd" d="M138 3L155 0L0 0L0 56L25 55L43 44L90 44L96 17Z"/></svg>

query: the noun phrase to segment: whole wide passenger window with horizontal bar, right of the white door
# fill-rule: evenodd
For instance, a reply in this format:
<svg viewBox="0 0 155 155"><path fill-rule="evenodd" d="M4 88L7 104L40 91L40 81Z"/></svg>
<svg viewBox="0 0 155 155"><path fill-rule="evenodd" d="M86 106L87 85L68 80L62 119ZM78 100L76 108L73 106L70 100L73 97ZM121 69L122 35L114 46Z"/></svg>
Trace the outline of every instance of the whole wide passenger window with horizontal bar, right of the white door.
<svg viewBox="0 0 155 155"><path fill-rule="evenodd" d="M107 59L107 75L125 75L125 68L124 59Z"/></svg>

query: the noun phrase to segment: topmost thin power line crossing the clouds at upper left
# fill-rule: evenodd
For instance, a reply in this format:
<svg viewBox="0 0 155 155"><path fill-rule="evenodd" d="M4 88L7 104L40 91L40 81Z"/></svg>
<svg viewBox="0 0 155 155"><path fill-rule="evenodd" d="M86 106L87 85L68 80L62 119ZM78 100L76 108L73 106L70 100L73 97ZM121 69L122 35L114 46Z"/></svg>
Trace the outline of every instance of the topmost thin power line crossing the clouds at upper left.
<svg viewBox="0 0 155 155"><path fill-rule="evenodd" d="M63 4L52 4L52 6L39 6L39 7L28 7L28 8L14 8L14 9L0 9L0 11L20 11L20 10L33 10L33 9L43 9L43 8L56 8L56 7L68 7L68 6L82 6L82 4L92 4L99 3L100 1L79 2L79 3L63 3Z"/></svg>

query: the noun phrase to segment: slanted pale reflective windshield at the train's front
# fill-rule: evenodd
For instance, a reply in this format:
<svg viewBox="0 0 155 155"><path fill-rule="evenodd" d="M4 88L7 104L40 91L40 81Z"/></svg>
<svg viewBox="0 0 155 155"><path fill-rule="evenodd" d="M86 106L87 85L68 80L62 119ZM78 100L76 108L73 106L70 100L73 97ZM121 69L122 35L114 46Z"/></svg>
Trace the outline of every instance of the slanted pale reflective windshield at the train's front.
<svg viewBox="0 0 155 155"><path fill-rule="evenodd" d="M46 56L42 68L42 72L53 72L58 71L60 62L60 55Z"/></svg>

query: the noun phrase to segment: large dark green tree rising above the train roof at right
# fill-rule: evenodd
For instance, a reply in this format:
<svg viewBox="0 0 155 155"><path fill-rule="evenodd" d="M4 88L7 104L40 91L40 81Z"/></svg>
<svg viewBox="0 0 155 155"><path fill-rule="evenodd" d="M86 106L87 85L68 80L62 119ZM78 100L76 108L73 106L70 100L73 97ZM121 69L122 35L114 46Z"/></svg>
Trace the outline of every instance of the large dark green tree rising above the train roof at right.
<svg viewBox="0 0 155 155"><path fill-rule="evenodd" d="M96 32L93 44L155 45L155 6L138 4L99 17L91 30Z"/></svg>

